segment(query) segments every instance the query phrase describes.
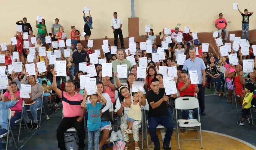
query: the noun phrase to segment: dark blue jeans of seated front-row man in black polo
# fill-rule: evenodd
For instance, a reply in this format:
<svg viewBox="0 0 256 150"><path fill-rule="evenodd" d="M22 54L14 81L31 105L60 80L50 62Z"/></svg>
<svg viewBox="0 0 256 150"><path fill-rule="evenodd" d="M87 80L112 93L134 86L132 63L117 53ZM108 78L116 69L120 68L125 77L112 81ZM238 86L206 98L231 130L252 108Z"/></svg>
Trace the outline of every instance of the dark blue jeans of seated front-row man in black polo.
<svg viewBox="0 0 256 150"><path fill-rule="evenodd" d="M173 134L173 123L169 116L164 115L161 117L149 117L148 118L148 131L151 137L151 140L154 142L155 146L160 145L158 136L156 134L156 127L161 124L167 130L164 136L164 145L167 145L171 141Z"/></svg>

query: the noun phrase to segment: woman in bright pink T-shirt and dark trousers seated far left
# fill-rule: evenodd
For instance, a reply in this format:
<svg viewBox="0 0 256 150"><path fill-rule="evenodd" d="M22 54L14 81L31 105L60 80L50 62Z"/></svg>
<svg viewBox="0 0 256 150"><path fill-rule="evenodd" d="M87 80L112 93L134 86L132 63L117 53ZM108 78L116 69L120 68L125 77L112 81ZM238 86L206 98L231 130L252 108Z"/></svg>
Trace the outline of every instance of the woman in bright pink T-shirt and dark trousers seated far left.
<svg viewBox="0 0 256 150"><path fill-rule="evenodd" d="M15 111L14 116L11 118L11 128L14 129L14 122L16 120L19 120L21 118L21 110L22 110L22 98L20 98L20 91L18 91L17 83L11 82L9 84L11 86L12 92L14 94L14 97L17 101L17 103L11 107L11 111ZM11 101L11 95L9 91L6 91L3 95L3 101L8 102Z"/></svg>

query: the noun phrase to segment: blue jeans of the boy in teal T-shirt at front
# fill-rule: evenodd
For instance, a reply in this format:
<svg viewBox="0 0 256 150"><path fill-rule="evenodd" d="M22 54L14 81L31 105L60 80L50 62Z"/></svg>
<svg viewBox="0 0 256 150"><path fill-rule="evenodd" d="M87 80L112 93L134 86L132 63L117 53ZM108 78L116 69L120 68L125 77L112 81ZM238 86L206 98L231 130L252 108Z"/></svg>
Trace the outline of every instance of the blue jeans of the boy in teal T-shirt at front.
<svg viewBox="0 0 256 150"><path fill-rule="evenodd" d="M99 138L100 138L100 128L95 131L89 131L88 129L88 149L93 150L93 145L95 149L99 149Z"/></svg>

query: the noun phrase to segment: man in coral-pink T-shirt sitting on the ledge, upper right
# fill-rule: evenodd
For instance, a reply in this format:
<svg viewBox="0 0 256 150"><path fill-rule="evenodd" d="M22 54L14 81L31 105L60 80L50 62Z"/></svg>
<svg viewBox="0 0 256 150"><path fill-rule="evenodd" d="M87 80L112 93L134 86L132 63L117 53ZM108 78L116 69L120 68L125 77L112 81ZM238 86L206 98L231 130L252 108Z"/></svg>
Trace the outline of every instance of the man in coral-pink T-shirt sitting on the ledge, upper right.
<svg viewBox="0 0 256 150"><path fill-rule="evenodd" d="M223 18L223 14L219 14L219 18L215 21L215 28L218 29L219 37L222 39L223 43L226 43L226 40L228 38L228 30L227 30L228 23L225 18ZM221 33L225 32L225 38L221 37Z"/></svg>

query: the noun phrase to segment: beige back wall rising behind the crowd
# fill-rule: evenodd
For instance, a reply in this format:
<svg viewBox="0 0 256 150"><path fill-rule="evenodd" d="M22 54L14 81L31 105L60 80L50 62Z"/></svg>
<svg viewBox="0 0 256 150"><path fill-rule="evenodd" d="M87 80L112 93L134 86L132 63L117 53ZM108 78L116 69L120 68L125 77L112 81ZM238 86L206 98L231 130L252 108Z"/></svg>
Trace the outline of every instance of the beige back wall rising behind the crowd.
<svg viewBox="0 0 256 150"><path fill-rule="evenodd" d="M139 17L140 35L145 35L145 25L153 25L152 28L156 35L165 28L173 29L177 23L184 26L190 26L192 32L212 32L215 31L214 21L219 13L231 23L228 24L228 30L241 30L242 16L238 10L233 10L233 0L135 0L135 16ZM239 1L236 1L239 3ZM240 9L247 8L249 11L255 11L255 0L240 1ZM88 4L87 4L88 3ZM59 4L59 6L56 6ZM39 5L41 9L39 9ZM54 6L54 8L52 7ZM23 1L1 1L1 34L0 43L10 44L10 39L17 29L15 22L27 17L32 25L34 35L37 33L35 27L36 16L42 15L46 21L47 31L51 32L51 26L55 18L60 20L64 26L64 31L70 38L70 26L76 26L83 29L83 7L89 6L93 17L93 29L91 38L112 38L111 19L113 12L116 11L123 21L123 36L128 36L128 18L131 16L130 0L44 0L39 4L35 0ZM254 6L254 8L253 8ZM26 9L24 9L26 8ZM250 29L256 29L255 15L250 17ZM83 39L83 38L81 38Z"/></svg>

